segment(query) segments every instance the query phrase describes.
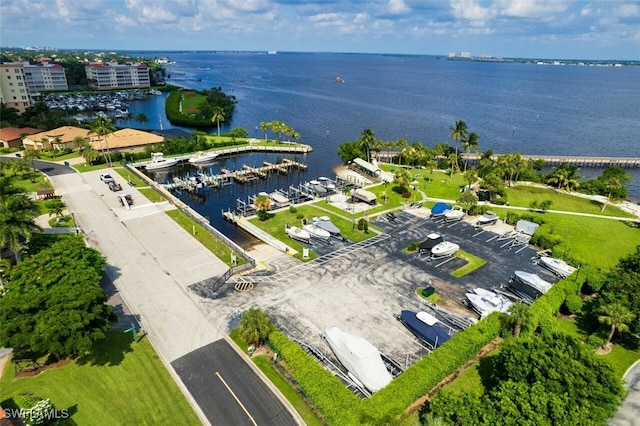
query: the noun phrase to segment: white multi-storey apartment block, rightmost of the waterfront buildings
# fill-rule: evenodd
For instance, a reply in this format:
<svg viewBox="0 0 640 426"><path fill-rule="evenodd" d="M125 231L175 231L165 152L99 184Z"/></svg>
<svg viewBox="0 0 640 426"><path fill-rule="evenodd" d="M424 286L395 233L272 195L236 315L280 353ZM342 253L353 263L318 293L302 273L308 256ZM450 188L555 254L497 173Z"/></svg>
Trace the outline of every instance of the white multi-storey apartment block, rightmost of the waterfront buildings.
<svg viewBox="0 0 640 426"><path fill-rule="evenodd" d="M85 71L89 87L96 90L151 87L149 68L141 63L91 63L85 67Z"/></svg>

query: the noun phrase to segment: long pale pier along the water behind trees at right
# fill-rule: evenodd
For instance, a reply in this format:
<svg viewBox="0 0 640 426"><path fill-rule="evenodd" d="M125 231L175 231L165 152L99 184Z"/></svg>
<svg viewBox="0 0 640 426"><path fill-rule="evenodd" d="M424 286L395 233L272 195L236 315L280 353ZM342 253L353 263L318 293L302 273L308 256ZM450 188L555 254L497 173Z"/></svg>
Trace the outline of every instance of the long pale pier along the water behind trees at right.
<svg viewBox="0 0 640 426"><path fill-rule="evenodd" d="M376 154L378 160L389 161L394 156L400 154L400 152L379 152ZM593 167L593 168L606 168L618 166L624 169L634 169L640 167L640 158L637 157L583 157L576 155L530 155L521 154L524 160L542 160L545 162L545 166L558 166L562 163L567 163L572 166L578 167ZM475 164L480 159L479 154L462 154L463 160L468 159L470 164ZM492 155L491 159L496 161L498 155Z"/></svg>

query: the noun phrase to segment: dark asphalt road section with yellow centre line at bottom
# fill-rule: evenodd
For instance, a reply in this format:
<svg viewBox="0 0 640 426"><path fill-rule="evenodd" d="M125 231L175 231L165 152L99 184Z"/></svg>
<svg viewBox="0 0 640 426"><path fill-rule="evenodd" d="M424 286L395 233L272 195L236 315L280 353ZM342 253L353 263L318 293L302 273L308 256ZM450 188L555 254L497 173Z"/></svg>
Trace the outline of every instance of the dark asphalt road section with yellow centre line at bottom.
<svg viewBox="0 0 640 426"><path fill-rule="evenodd" d="M212 424L297 424L225 340L190 352L171 365Z"/></svg>

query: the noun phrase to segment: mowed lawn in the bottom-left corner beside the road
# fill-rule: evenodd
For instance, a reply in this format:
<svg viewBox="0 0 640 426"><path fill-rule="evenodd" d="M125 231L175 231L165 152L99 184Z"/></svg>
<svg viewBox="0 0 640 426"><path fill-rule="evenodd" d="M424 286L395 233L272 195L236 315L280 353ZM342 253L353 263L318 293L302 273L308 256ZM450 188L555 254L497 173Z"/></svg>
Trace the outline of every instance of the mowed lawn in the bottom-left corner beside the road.
<svg viewBox="0 0 640 426"><path fill-rule="evenodd" d="M29 393L50 398L73 414L78 425L200 424L151 344L133 343L130 333L111 330L91 353L35 377L15 378L7 363L0 379L0 402Z"/></svg>

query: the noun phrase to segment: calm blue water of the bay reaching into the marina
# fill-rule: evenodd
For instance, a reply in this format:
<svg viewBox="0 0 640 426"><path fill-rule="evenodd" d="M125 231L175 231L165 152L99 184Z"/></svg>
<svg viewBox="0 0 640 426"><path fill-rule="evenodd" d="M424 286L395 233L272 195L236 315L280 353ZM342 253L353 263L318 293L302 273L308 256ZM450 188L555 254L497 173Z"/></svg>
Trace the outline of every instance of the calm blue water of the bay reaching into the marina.
<svg viewBox="0 0 640 426"><path fill-rule="evenodd" d="M278 120L295 128L300 142L314 147L304 159L309 164L306 173L279 178L284 181L233 185L221 191L224 194L209 193L202 204L190 202L220 228L225 227L218 218L221 207L235 206L236 198L246 199L245 193L331 176L340 163L337 147L356 140L366 128L383 140L406 138L409 143L433 146L453 143L449 127L462 119L480 136L481 149L496 153L640 156L638 67L358 54L156 55L176 61L167 67L174 84L194 89L220 86L236 96L236 112L223 130L244 127L251 136L264 137L260 122ZM336 76L344 83L334 83ZM164 97L156 96L130 110L145 112L149 128L172 127L164 116ZM122 124L137 125L135 121ZM256 158L226 161L241 166ZM640 172L633 175L629 189L639 199Z"/></svg>

